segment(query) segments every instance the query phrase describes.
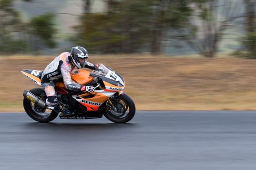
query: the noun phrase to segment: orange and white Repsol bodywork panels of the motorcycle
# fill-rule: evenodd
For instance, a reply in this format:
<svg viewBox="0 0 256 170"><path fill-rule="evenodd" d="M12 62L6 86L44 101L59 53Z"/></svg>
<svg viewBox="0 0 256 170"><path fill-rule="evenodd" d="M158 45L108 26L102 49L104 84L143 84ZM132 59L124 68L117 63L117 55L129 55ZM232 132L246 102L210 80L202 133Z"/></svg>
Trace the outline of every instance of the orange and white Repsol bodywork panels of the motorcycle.
<svg viewBox="0 0 256 170"><path fill-rule="evenodd" d="M42 71L39 70L22 70L29 79L37 85L41 85ZM124 79L118 76L118 73L110 70L101 64L98 69L91 73L87 70L74 69L71 72L71 80L79 85L88 85L94 79L102 79L102 85L99 85L95 92L72 95L72 98L87 108L87 111L98 111L99 106L106 102L115 93L124 89ZM95 77L95 78L94 78ZM58 82L55 85L55 90L62 94L67 94L68 89L63 82ZM88 96L91 97L88 97Z"/></svg>

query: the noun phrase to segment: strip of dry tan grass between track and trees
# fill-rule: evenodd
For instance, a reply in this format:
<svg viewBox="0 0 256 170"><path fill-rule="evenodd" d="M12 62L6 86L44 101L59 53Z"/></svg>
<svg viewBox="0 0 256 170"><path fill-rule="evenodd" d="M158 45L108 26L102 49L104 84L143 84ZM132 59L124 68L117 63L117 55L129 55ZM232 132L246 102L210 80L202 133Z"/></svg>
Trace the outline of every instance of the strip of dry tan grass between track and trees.
<svg viewBox="0 0 256 170"><path fill-rule="evenodd" d="M0 112L24 111L23 89L38 85L20 71L44 69L53 58L0 57ZM124 77L137 110L256 110L256 60L91 55L90 62Z"/></svg>

